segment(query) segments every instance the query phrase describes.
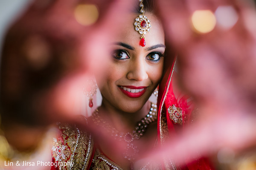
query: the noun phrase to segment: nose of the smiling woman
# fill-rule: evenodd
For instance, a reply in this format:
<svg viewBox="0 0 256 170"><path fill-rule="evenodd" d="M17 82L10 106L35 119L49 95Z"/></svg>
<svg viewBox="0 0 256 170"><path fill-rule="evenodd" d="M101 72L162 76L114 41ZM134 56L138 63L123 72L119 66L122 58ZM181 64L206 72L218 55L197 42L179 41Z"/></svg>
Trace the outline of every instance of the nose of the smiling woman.
<svg viewBox="0 0 256 170"><path fill-rule="evenodd" d="M146 61L136 59L131 62L127 78L136 81L143 81L148 78Z"/></svg>

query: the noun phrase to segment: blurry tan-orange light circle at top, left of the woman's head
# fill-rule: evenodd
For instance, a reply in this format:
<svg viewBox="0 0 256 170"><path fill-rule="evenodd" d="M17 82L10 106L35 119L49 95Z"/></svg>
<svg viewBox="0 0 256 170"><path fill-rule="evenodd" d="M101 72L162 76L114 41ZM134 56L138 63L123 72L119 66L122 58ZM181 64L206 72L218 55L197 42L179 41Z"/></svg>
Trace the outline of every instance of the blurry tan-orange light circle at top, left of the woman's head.
<svg viewBox="0 0 256 170"><path fill-rule="evenodd" d="M90 26L98 20L99 11L96 5L79 4L75 8L74 15L78 23L83 26Z"/></svg>

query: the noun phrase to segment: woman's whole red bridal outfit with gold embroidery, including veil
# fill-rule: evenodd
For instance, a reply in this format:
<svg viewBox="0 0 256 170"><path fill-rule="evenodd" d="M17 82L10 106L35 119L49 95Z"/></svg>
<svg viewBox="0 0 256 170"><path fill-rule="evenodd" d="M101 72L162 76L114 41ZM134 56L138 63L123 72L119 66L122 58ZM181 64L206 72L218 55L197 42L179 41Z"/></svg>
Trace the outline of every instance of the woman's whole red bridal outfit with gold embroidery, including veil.
<svg viewBox="0 0 256 170"><path fill-rule="evenodd" d="M175 62L176 58L166 70L159 85L157 121L160 145L164 144L170 136L175 135L177 127L181 128L191 122L193 108L187 102L187 97L174 95L172 82L175 77ZM59 128L61 137L54 139L52 146L52 160L59 164L58 167L52 166L51 170L122 170L122 167L99 151L90 133L82 132L70 125L60 125ZM213 170L213 168L207 159L197 159L184 163L182 167L171 160L163 160L161 166L145 165L140 170Z"/></svg>

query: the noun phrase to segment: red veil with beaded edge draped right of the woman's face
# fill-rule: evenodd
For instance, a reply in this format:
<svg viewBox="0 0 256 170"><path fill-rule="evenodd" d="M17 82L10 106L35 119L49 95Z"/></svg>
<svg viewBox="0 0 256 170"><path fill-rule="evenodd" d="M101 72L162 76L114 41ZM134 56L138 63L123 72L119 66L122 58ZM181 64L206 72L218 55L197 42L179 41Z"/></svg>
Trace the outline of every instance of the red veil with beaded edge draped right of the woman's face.
<svg viewBox="0 0 256 170"><path fill-rule="evenodd" d="M193 110L191 103L187 102L188 97L182 96L181 93L178 93L175 96L173 88L173 79L177 78L177 74L174 71L175 64L177 61L177 56L172 62L172 67L168 67L164 73L164 77L159 85L158 98L157 98L157 115L158 115L158 143L160 146L168 140L169 137L174 137L177 135L177 128L180 129L184 125L189 124L191 121L189 118ZM169 62L171 63L171 62ZM170 112L172 107L182 113L182 123L175 122L170 118ZM179 110L180 109L180 110ZM176 111L177 111L176 110ZM170 112L170 113L169 113ZM171 160L163 160L162 168L164 170L214 170L210 165L208 159L201 158L196 159L192 162L184 161L182 167L178 167Z"/></svg>

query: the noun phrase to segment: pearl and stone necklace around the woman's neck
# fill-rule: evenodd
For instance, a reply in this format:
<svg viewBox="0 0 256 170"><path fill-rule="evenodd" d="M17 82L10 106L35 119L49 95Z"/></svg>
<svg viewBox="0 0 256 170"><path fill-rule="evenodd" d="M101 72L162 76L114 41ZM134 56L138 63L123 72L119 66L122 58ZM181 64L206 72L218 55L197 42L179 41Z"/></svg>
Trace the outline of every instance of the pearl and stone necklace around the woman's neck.
<svg viewBox="0 0 256 170"><path fill-rule="evenodd" d="M116 128L109 125L99 116L99 110L96 109L92 114L93 123L97 126L102 126L114 137L119 141L125 141L127 143L126 150L124 153L124 158L128 159L130 162L134 161L134 156L138 153L138 148L132 142L134 139L140 139L141 136L145 133L148 125L150 123L155 122L157 120L157 105L151 103L151 108L148 114L143 117L140 122L137 123L137 126L133 130L132 133L122 133L116 130Z"/></svg>

